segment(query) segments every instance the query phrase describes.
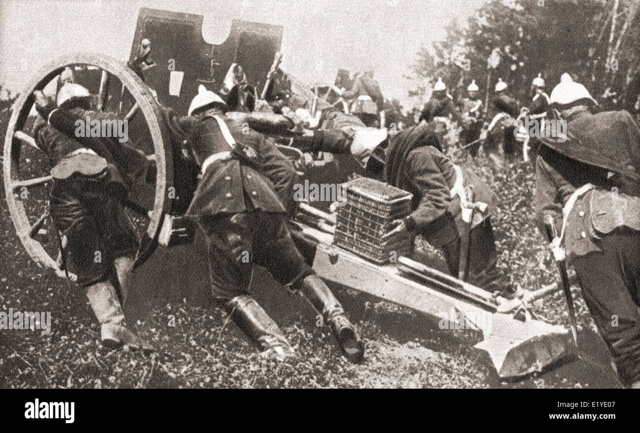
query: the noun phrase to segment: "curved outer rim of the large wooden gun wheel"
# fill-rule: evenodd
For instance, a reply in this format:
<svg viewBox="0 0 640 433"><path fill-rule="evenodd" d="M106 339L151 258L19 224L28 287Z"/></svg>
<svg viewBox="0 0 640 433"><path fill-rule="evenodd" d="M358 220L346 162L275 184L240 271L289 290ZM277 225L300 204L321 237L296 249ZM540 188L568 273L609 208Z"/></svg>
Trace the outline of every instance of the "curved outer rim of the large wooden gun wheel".
<svg viewBox="0 0 640 433"><path fill-rule="evenodd" d="M122 86L127 88L138 103L139 109L143 113L145 122L147 123L154 147L157 174L154 208L150 211L150 215L148 215L149 222L145 230L145 236L147 236L148 239L143 240L143 245L145 245L146 249L152 248L153 242L151 242L151 240L156 237L156 234L161 228L164 214L169 211L170 202L167 199L167 192L168 188L173 185L173 161L171 158L170 140L166 127L164 127L162 122L159 122L159 118L161 118L160 108L148 86L127 67L125 62L114 60L102 54L75 53L62 56L40 69L29 81L28 86L20 94L12 107L12 115L4 139L3 181L7 206L22 245L38 266L52 268L56 271L56 274L60 276L65 276L65 272L58 267L56 260L49 255L40 241L33 238L34 225L29 223L28 213L24 203L16 193L17 188L22 188L22 186L35 186L36 184L44 184L47 182L42 177L35 179L33 184L28 184L32 182L31 179L27 181L20 179L20 152L22 146L28 142L28 136L21 136L20 133L22 133L22 128L26 124L29 112L33 108L33 92L35 90L42 90L52 79L56 78L65 67L78 64L98 67L118 78ZM146 256L147 254L146 251L141 253L141 256Z"/></svg>

